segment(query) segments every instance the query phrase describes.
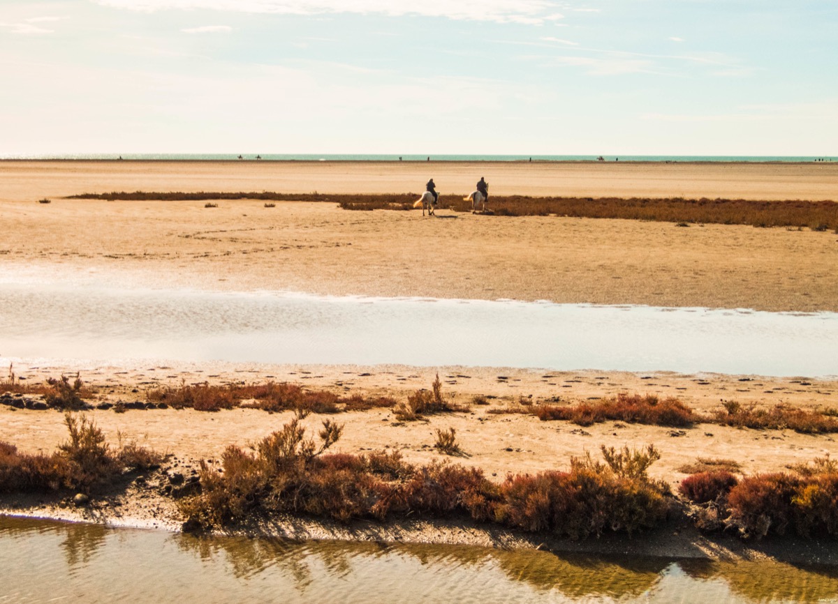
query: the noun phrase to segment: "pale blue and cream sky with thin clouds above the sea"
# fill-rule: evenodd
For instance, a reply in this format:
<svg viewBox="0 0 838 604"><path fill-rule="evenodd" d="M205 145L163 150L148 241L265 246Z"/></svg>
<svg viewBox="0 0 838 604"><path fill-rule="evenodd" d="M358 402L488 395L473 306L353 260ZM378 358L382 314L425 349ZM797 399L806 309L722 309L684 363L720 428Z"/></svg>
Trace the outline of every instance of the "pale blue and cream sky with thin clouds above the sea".
<svg viewBox="0 0 838 604"><path fill-rule="evenodd" d="M836 0L0 0L0 156L838 155Z"/></svg>

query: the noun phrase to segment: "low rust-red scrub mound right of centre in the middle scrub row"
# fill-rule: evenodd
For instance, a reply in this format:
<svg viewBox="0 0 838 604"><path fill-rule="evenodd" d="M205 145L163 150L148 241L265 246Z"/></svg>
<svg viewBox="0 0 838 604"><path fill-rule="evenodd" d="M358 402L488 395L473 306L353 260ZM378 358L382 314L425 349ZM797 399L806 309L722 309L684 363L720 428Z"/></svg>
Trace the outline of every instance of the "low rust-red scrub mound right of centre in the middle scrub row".
<svg viewBox="0 0 838 604"><path fill-rule="evenodd" d="M560 407L541 405L532 413L541 419L565 420L580 426L617 420L621 422L644 423L653 426L690 426L696 416L683 402L676 398L660 400L654 395L640 396L620 393L617 397L594 403L581 402L577 405Z"/></svg>

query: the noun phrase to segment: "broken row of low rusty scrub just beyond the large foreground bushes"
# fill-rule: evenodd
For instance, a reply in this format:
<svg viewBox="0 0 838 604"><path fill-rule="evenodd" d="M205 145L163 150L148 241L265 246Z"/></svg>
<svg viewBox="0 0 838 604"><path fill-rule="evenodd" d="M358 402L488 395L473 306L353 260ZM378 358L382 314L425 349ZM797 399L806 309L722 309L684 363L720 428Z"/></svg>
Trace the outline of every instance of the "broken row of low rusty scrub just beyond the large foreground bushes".
<svg viewBox="0 0 838 604"><path fill-rule="evenodd" d="M95 396L96 391L85 386L79 374L70 381L69 376L48 378L45 384L23 384L9 368L9 375L0 381L0 403L23 402L11 395L37 394L44 398L40 407L60 410L81 410L92 408L85 399ZM359 393L339 396L328 390L308 390L289 382L266 381L257 384L227 383L209 384L200 382L179 386L158 386L145 392L146 402L100 403L101 408L113 407L116 412L127 408L173 407L192 408L196 411L217 412L222 409L246 407L266 412L293 411L297 413L339 413L366 411L372 408L391 408L396 419L402 422L424 419L428 415L446 412L468 412L469 404L455 403L442 392L442 381L437 374L431 389L420 389L397 402L392 397L365 397ZM473 397L473 404L488 404L486 397ZM104 405L104 407L102 407ZM735 401L722 401L722 409L710 415L694 412L677 398L661 399L652 394L618 393L596 402L556 404L547 402L535 404L529 397L519 397L517 403L505 407L489 408L489 414L522 413L531 414L542 421L566 421L579 426L591 426L607 421L641 423L652 426L689 427L693 424L716 423L722 426L749 427L753 429L794 430L798 433L838 433L838 417L835 410L807 411L788 405L761 408L744 406Z"/></svg>

